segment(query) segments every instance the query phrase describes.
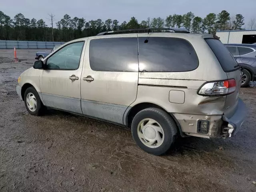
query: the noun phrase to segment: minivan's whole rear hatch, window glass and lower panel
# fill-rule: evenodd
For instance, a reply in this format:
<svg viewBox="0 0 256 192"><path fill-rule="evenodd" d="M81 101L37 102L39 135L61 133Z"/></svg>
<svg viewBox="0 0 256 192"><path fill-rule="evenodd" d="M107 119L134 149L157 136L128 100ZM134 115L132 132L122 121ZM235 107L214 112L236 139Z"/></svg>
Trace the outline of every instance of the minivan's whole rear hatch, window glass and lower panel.
<svg viewBox="0 0 256 192"><path fill-rule="evenodd" d="M227 80L236 80L236 90L226 96L226 102L224 105L224 114L227 118L233 116L236 108L238 107L238 94L241 85L241 71L238 63L229 52L229 50L220 42L220 40L215 38L206 38L207 44L210 46L214 52L216 58L220 62L222 69L227 74Z"/></svg>

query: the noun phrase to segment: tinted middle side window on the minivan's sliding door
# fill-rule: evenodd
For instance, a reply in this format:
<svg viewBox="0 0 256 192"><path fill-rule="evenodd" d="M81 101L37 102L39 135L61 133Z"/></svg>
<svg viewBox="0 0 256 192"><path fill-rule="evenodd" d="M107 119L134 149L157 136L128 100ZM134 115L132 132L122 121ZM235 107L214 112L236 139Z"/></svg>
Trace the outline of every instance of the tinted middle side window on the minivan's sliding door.
<svg viewBox="0 0 256 192"><path fill-rule="evenodd" d="M90 67L94 71L138 71L137 38L91 40Z"/></svg>

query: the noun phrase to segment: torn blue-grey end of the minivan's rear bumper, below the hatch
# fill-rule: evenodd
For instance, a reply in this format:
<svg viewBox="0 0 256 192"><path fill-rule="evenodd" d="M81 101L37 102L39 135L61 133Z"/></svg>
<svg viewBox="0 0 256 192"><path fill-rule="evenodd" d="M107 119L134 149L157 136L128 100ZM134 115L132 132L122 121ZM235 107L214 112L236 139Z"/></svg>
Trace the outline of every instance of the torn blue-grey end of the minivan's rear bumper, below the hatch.
<svg viewBox="0 0 256 192"><path fill-rule="evenodd" d="M228 123L227 126L222 128L222 138L232 137L238 132L244 122L246 112L247 108L244 102L241 99L238 99L238 108L234 115L230 118L222 115L222 120Z"/></svg>

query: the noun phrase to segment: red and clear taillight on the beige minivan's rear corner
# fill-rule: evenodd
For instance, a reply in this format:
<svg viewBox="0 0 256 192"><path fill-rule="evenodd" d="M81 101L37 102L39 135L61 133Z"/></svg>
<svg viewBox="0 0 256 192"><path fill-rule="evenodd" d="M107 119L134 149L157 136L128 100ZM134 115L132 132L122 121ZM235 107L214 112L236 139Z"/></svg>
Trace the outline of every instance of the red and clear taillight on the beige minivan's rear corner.
<svg viewBox="0 0 256 192"><path fill-rule="evenodd" d="M203 96L223 96L234 93L236 90L236 80L230 79L225 81L206 83L198 91Z"/></svg>

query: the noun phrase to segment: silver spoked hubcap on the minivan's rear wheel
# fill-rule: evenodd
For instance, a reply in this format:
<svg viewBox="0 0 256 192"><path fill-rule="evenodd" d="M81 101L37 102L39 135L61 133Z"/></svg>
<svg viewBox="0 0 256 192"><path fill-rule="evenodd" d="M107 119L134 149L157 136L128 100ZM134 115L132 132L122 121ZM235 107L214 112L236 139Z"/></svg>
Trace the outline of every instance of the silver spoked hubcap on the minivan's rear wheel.
<svg viewBox="0 0 256 192"><path fill-rule="evenodd" d="M164 130L154 119L144 119L138 124L140 141L150 148L157 148L164 142Z"/></svg>

